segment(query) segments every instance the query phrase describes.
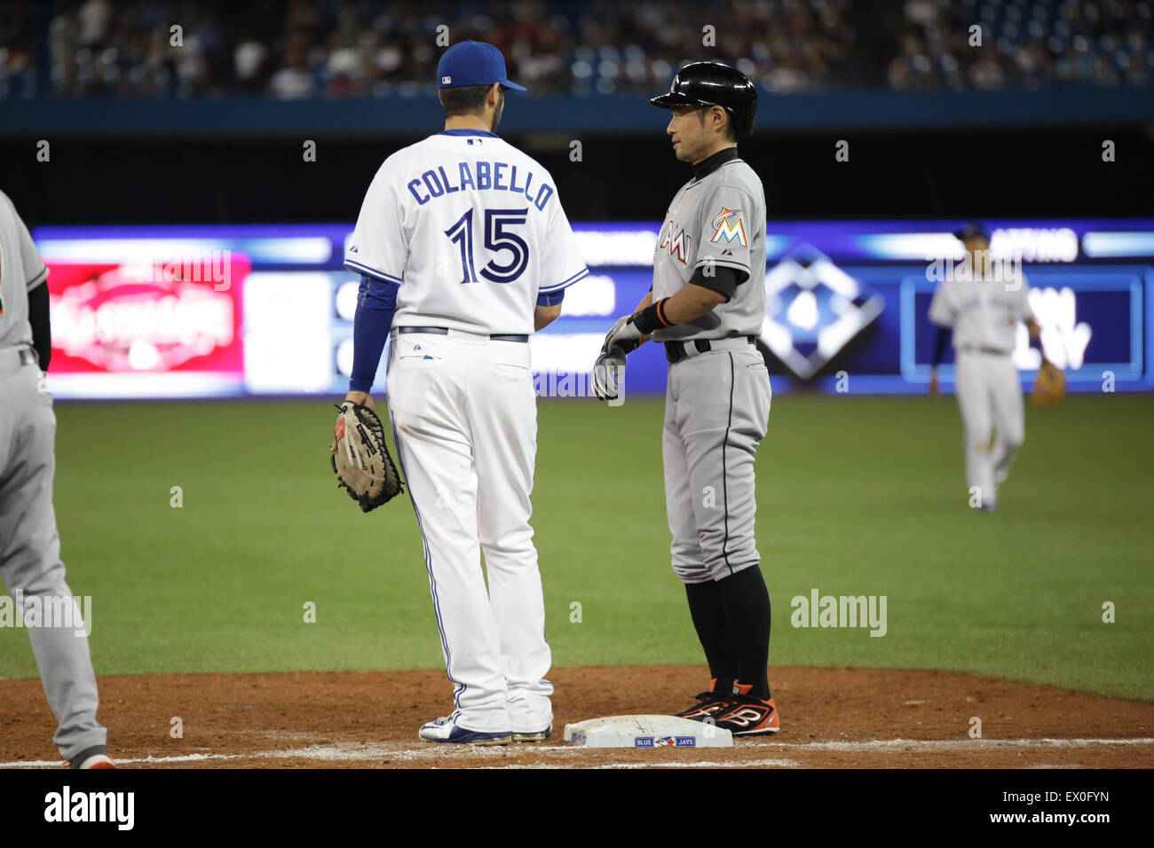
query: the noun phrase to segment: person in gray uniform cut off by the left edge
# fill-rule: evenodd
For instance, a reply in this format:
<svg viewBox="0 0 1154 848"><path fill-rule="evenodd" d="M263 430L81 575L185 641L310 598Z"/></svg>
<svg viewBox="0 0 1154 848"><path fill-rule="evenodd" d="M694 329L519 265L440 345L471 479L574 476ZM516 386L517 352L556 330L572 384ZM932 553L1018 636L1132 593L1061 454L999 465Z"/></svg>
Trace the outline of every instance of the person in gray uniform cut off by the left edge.
<svg viewBox="0 0 1154 848"><path fill-rule="evenodd" d="M38 621L25 617L27 630L59 722L60 755L74 768L111 768L108 731L96 721L88 637L65 583L52 509L57 417L40 374L52 353L47 276L28 227L0 192L0 575L21 613L40 610ZM66 621L50 621L50 610L63 605Z"/></svg>

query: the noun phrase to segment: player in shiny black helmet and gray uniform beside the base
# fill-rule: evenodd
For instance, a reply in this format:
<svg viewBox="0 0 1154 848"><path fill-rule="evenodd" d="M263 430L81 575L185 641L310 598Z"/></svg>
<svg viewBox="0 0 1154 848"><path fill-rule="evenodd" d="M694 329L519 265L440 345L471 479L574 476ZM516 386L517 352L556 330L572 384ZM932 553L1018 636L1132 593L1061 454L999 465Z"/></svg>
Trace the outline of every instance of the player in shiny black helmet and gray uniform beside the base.
<svg viewBox="0 0 1154 848"><path fill-rule="evenodd" d="M734 735L777 733L770 695L770 595L755 547L754 458L770 415L770 375L755 346L765 316L765 194L737 158L751 133L757 91L715 62L688 65L669 93L674 155L690 163L665 216L653 287L620 318L605 351L665 343L665 497L673 569L712 682L679 715Z"/></svg>

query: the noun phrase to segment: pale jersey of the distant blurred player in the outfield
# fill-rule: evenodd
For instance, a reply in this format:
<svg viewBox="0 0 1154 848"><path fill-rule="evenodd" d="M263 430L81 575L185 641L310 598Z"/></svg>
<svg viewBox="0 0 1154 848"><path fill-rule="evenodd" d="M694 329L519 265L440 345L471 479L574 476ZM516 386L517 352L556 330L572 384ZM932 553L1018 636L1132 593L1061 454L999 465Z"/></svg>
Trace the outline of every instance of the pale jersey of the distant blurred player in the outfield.
<svg viewBox="0 0 1154 848"><path fill-rule="evenodd" d="M930 321L953 328L954 347L1012 352L1017 322L1033 314L1026 276L1019 271L998 278L980 277L967 270L960 269L938 285L930 301Z"/></svg>

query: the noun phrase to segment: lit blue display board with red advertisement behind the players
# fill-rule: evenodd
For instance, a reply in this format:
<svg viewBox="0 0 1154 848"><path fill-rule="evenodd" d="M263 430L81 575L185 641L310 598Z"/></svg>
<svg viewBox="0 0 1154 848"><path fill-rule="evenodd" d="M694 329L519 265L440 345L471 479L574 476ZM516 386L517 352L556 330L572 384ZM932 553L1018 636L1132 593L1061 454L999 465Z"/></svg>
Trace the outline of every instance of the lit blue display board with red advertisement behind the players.
<svg viewBox="0 0 1154 848"><path fill-rule="evenodd" d="M775 392L926 391L938 282L962 258L959 222L771 222L758 348ZM1046 355L1071 391L1154 388L1154 219L986 222L1020 268ZM540 395L591 396L606 330L649 292L658 225L574 225L587 278L531 342ZM40 227L58 397L339 395L352 369L358 277L351 225ZM205 331L205 325L211 331ZM1040 362L1025 328L1024 385ZM60 366L58 368L58 361ZM383 392L383 368L377 392ZM939 369L952 382L952 357ZM629 358L627 391L665 391L658 345Z"/></svg>

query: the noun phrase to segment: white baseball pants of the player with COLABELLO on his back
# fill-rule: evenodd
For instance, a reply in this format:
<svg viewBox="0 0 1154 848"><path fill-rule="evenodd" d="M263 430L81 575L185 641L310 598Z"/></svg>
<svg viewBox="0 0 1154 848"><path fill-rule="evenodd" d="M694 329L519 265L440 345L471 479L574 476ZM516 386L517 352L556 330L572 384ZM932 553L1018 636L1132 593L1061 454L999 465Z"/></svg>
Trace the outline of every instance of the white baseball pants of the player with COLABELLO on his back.
<svg viewBox="0 0 1154 848"><path fill-rule="evenodd" d="M553 721L552 655L529 525L537 459L529 345L455 330L395 332L387 385L457 723L544 730Z"/></svg>

